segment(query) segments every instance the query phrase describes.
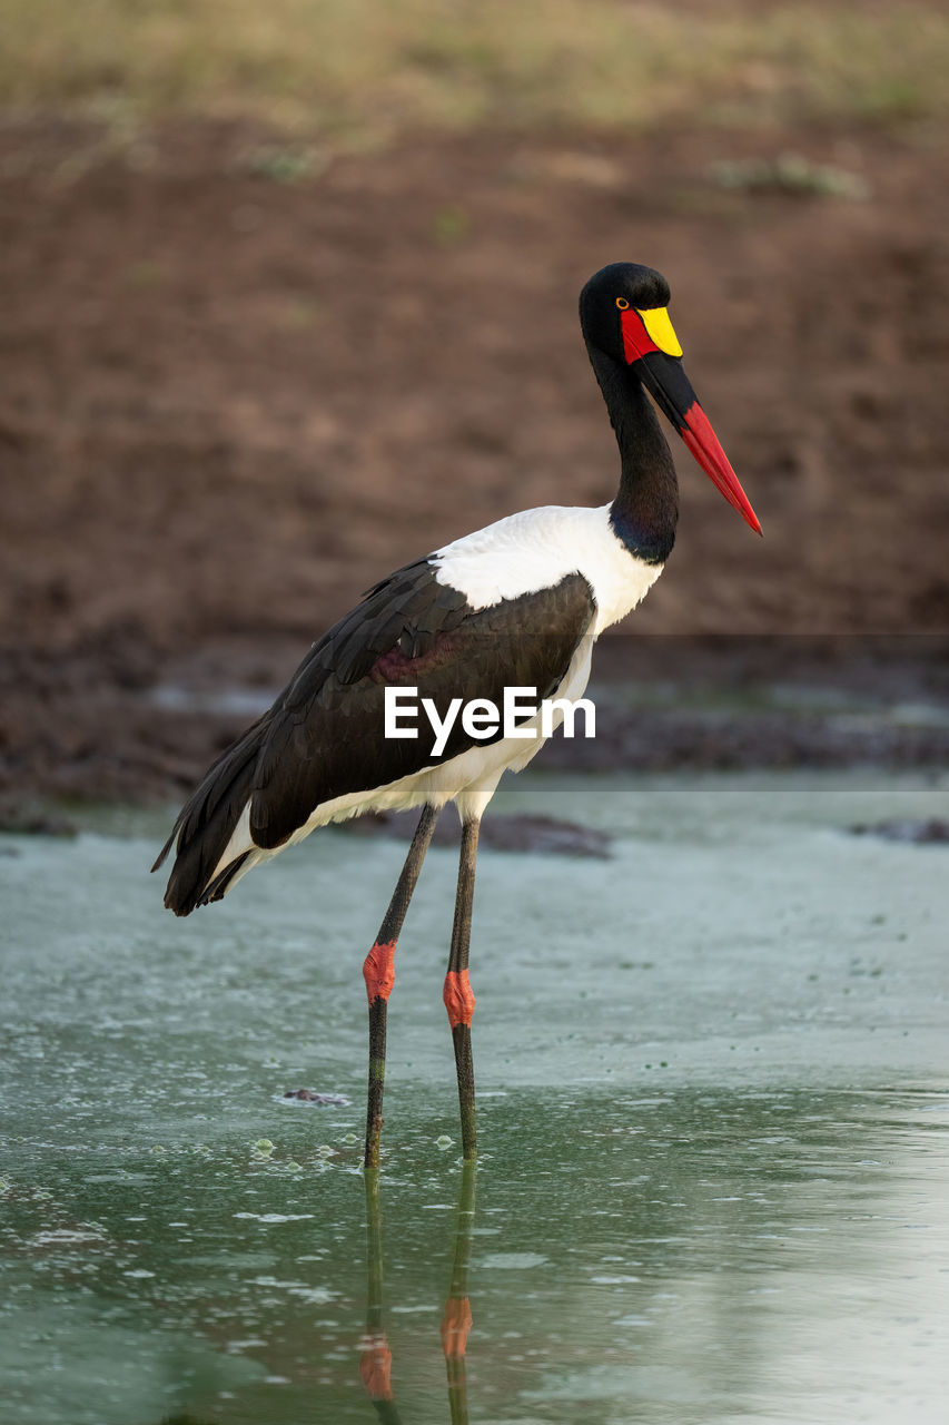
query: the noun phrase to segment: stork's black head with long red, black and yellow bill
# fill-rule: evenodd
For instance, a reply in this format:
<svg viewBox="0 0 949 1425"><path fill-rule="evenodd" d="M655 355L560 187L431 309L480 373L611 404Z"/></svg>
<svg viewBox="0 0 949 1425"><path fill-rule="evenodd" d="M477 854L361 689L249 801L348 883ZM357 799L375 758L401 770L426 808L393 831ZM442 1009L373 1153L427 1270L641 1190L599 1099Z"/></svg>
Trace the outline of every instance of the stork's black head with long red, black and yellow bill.
<svg viewBox="0 0 949 1425"><path fill-rule="evenodd" d="M580 294L587 346L641 380L712 484L761 534L758 516L683 370L683 348L668 319L668 282L661 272L638 262L610 262Z"/></svg>

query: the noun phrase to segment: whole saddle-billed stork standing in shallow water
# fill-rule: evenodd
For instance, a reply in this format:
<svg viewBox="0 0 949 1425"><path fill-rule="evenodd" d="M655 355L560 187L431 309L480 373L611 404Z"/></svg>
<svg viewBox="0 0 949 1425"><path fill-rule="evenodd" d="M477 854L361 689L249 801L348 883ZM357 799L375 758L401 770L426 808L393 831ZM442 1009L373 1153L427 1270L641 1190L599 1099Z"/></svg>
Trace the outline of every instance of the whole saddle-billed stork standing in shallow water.
<svg viewBox="0 0 949 1425"><path fill-rule="evenodd" d="M594 640L655 583L675 539L678 484L647 392L725 499L761 526L685 379L653 268L613 262L580 294L580 325L620 446L620 489L598 509L510 514L416 559L370 589L318 638L274 705L209 767L160 854L175 862L165 905L188 915L219 901L251 866L316 826L362 812L422 807L362 972L369 998L366 1166L379 1163L386 1007L395 948L446 802L462 821L455 925L445 978L466 1159L476 1154L467 978L482 815L504 771L541 747L537 718L517 737L455 718L440 755L425 737L386 738L386 688L416 688L445 722L463 700L502 705L504 688L576 701ZM557 724L559 717L554 717ZM530 734L531 735L524 735ZM480 735L479 735L480 732Z"/></svg>

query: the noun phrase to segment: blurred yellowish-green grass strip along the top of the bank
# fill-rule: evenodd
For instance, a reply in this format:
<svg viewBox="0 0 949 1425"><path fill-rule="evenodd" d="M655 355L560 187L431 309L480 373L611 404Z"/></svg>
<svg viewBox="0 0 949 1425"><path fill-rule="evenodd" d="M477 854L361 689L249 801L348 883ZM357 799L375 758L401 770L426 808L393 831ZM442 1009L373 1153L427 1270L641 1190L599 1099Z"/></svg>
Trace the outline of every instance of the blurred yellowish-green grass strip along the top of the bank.
<svg viewBox="0 0 949 1425"><path fill-rule="evenodd" d="M949 14L849 0L0 0L0 107L406 128L940 118Z"/></svg>

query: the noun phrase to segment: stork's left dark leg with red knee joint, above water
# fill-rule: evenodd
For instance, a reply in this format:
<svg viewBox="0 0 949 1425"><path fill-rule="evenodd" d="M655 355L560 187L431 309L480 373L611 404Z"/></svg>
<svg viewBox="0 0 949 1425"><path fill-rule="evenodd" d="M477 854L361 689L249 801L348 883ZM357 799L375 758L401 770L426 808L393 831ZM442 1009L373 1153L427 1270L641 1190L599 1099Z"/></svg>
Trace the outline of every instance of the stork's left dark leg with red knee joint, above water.
<svg viewBox="0 0 949 1425"><path fill-rule="evenodd" d="M395 985L395 948L409 901L419 879L419 871L429 849L440 807L426 804L415 828L415 836L405 858L402 875L392 892L376 943L362 966L369 999L369 1103L366 1107L366 1167L379 1167L379 1134L382 1131L382 1093L386 1080L386 1006Z"/></svg>

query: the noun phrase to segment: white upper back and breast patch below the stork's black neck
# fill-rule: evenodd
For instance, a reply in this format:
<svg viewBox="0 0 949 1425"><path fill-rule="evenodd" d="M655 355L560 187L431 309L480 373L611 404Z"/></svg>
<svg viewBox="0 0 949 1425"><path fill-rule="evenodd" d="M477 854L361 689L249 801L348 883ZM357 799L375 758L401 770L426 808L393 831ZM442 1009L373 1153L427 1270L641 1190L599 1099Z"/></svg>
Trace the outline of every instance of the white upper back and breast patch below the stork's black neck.
<svg viewBox="0 0 949 1425"><path fill-rule="evenodd" d="M647 594L661 564L645 564L616 537L610 506L544 504L456 539L435 554L435 577L457 589L473 608L551 589L583 574L597 601L596 638Z"/></svg>

